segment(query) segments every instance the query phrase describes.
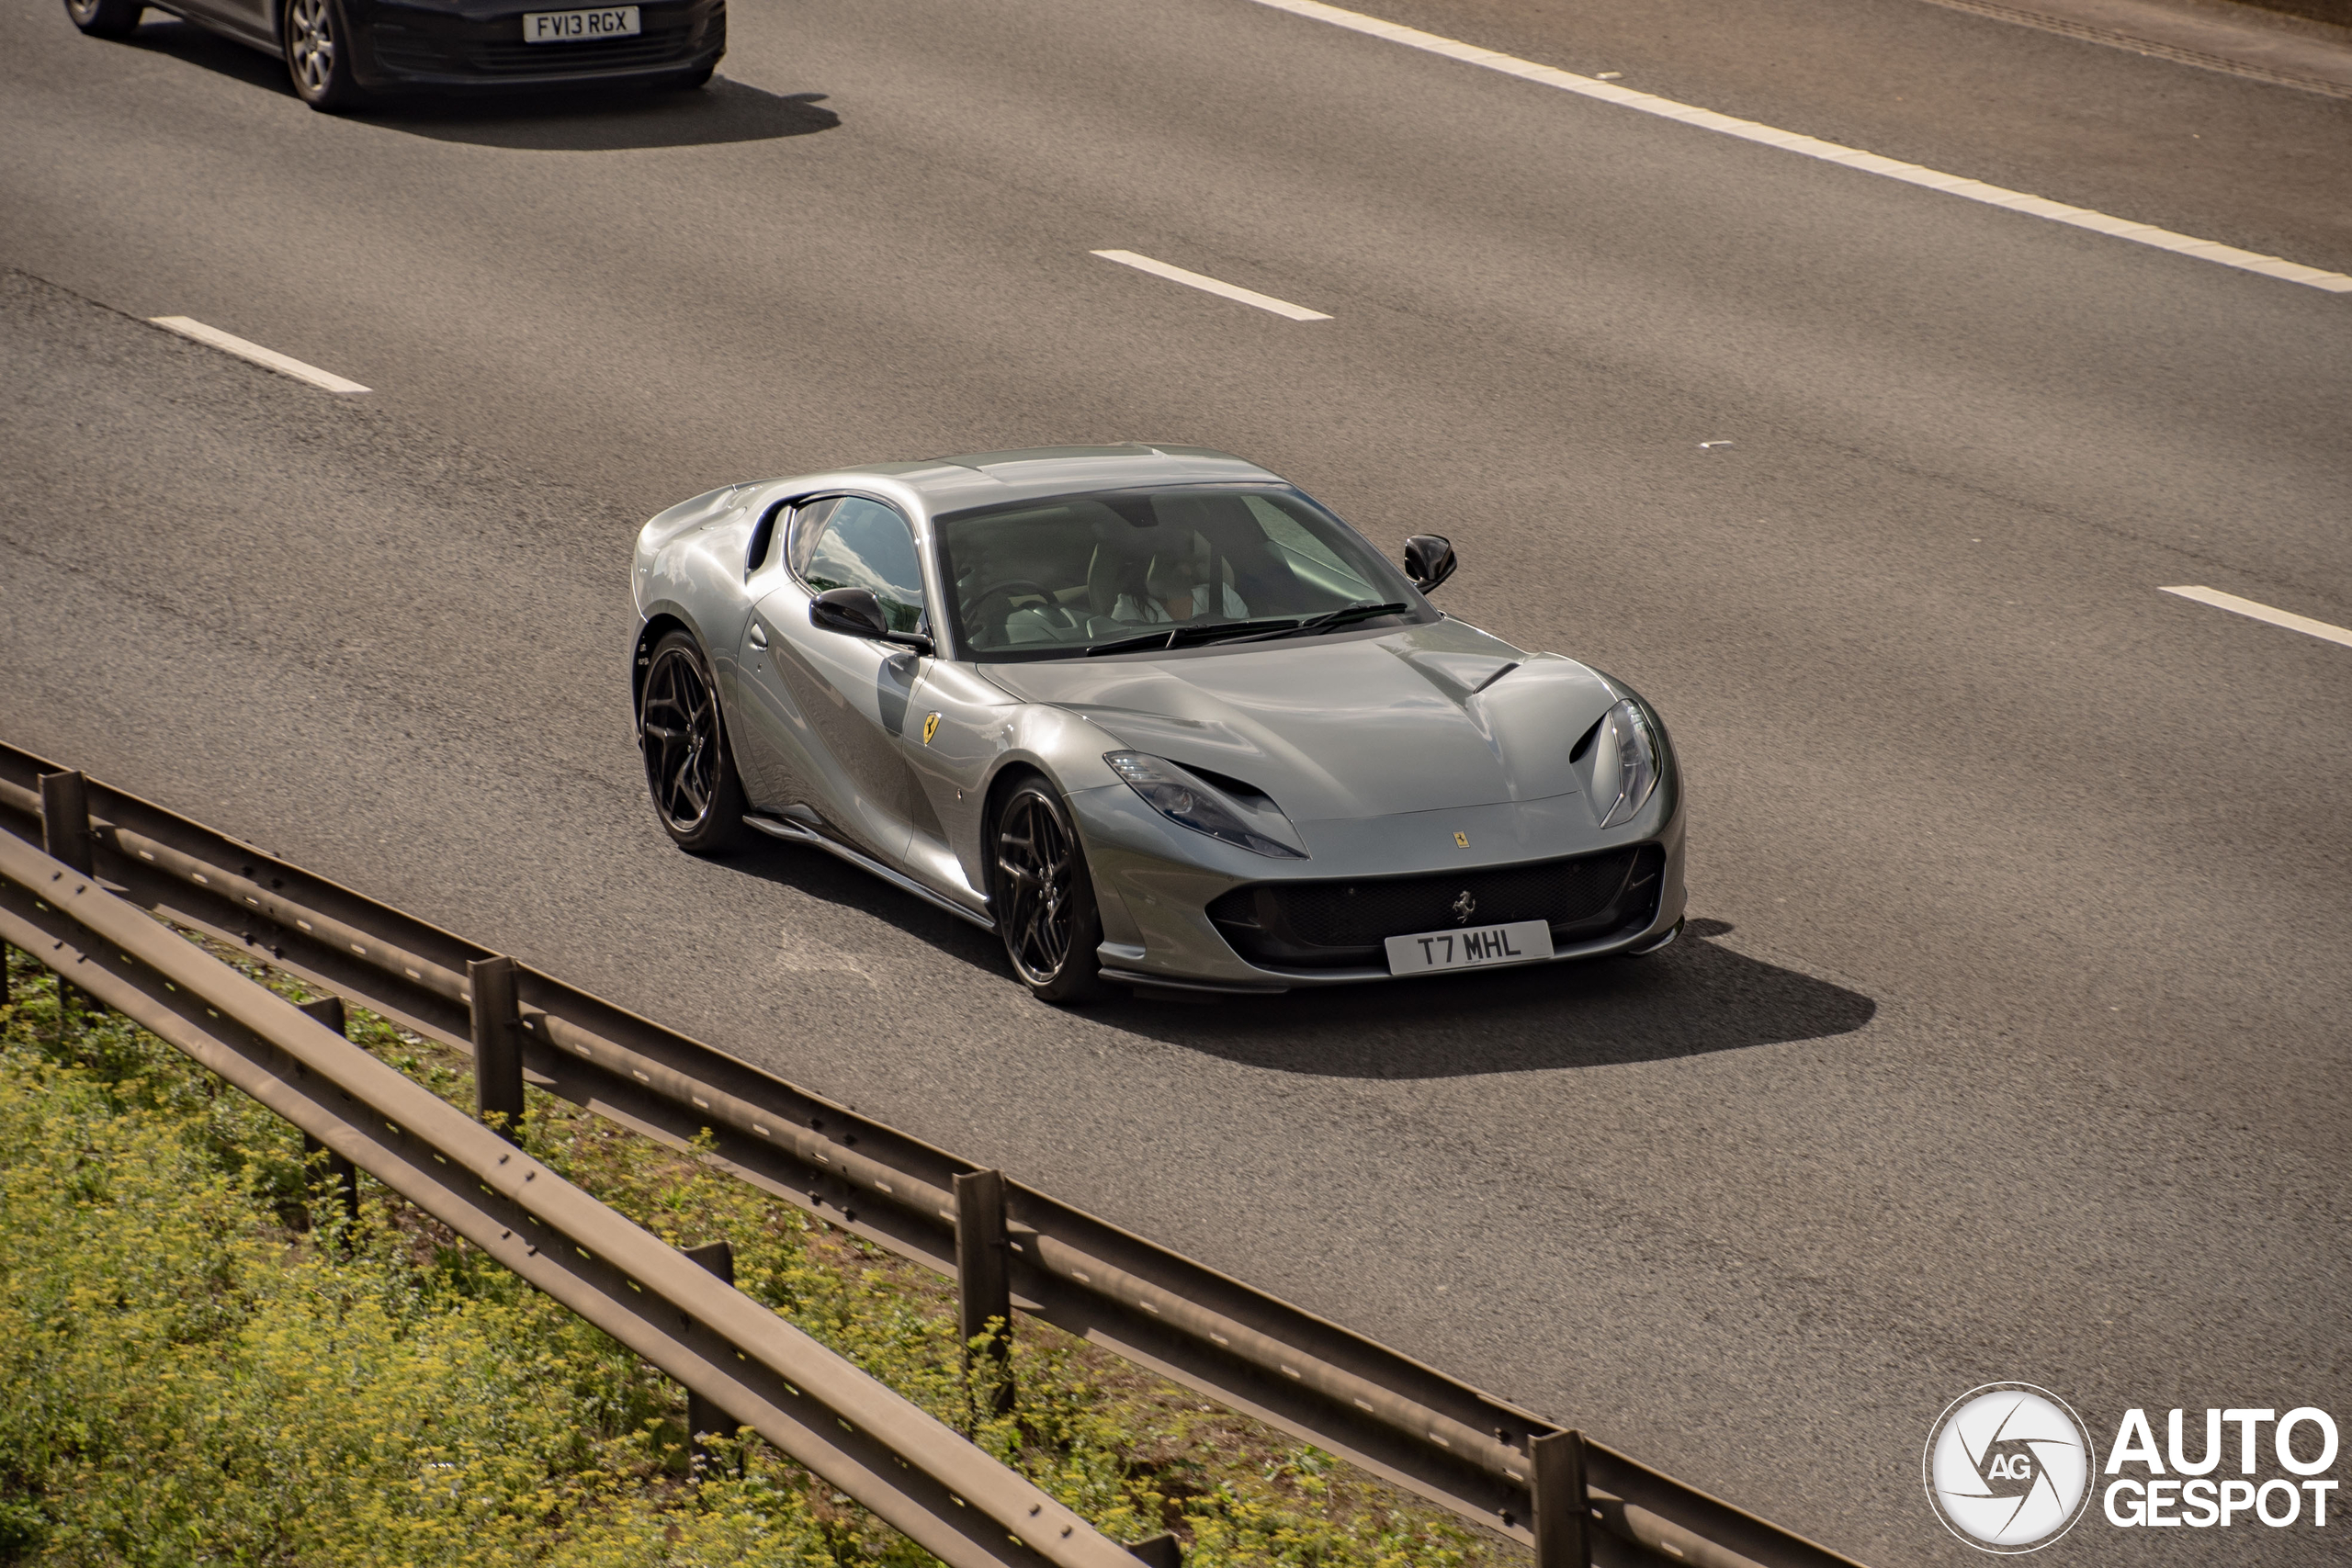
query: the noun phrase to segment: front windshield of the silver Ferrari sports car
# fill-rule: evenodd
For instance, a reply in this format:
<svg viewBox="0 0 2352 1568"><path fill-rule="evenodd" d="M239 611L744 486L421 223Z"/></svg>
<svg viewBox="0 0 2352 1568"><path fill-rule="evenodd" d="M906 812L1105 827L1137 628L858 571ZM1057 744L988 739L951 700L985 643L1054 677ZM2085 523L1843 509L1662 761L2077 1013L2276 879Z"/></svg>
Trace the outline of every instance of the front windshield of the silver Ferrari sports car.
<svg viewBox="0 0 2352 1568"><path fill-rule="evenodd" d="M1075 658L1277 632L1350 607L1432 611L1364 538L1294 489L1183 487L1021 501L938 520L964 658ZM1343 621L1341 625L1367 625ZM1310 628L1312 630L1312 628Z"/></svg>

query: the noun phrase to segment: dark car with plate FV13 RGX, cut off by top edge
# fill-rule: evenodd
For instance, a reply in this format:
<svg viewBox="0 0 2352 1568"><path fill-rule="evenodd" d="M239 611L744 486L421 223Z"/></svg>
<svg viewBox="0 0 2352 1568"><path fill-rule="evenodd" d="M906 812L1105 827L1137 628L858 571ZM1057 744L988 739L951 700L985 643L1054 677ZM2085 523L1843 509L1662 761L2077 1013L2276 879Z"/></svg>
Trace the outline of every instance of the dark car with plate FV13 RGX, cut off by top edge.
<svg viewBox="0 0 2352 1568"><path fill-rule="evenodd" d="M701 87L727 52L727 0L66 0L125 38L153 5L285 59L303 103L470 87Z"/></svg>

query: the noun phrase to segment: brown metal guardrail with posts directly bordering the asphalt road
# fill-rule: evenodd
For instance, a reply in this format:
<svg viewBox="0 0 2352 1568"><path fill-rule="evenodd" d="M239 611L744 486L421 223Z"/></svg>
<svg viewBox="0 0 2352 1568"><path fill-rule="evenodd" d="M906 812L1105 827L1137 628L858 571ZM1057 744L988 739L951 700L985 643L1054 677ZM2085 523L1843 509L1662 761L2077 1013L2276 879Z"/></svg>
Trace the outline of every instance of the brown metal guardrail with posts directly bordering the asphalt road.
<svg viewBox="0 0 2352 1568"><path fill-rule="evenodd" d="M485 1105L508 1093L520 1105L520 1081L501 1086L520 1070L673 1145L708 1131L713 1159L743 1180L957 1274L969 1321L988 1316L974 1293L995 1274L1009 1305L1534 1544L1538 1568L1860 1568L1033 1187L969 1180L981 1175L971 1161L146 799L89 780L45 825L52 773L61 769L0 745L0 827L80 835L89 865L132 903L266 950L475 1053ZM1002 1199L983 1206L983 1192ZM967 1241L1002 1234L1009 1267L960 1272L960 1229Z"/></svg>

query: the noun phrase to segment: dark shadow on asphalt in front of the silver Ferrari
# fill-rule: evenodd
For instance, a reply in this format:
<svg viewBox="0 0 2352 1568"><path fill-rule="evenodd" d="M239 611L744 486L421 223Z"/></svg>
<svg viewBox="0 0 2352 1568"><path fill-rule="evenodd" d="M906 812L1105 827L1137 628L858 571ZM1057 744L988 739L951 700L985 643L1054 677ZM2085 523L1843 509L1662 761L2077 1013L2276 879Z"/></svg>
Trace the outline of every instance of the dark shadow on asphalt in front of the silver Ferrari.
<svg viewBox="0 0 2352 1568"><path fill-rule="evenodd" d="M1249 1067L1350 1079L1456 1079L1656 1063L1860 1030L1877 1001L1752 959L1693 919L1642 959L1230 999L1112 1004L1105 1023Z"/></svg>

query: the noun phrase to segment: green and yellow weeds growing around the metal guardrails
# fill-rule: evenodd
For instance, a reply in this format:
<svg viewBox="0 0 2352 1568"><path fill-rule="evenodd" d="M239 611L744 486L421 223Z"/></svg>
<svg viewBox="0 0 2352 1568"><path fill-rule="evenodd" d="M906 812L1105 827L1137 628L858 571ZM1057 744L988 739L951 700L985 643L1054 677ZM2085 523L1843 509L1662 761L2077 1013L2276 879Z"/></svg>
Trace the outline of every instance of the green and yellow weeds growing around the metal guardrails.
<svg viewBox="0 0 2352 1568"><path fill-rule="evenodd" d="M9 964L0 1563L931 1561L757 1439L696 1472L654 1368L367 1178L346 1227L289 1126ZM355 1037L470 1103L461 1056L372 1016ZM536 1091L524 1140L673 1244L731 1241L750 1295L1120 1540L1174 1528L1195 1568L1505 1556L1028 1319L988 1418L929 1272Z"/></svg>

